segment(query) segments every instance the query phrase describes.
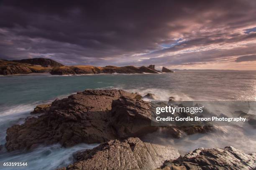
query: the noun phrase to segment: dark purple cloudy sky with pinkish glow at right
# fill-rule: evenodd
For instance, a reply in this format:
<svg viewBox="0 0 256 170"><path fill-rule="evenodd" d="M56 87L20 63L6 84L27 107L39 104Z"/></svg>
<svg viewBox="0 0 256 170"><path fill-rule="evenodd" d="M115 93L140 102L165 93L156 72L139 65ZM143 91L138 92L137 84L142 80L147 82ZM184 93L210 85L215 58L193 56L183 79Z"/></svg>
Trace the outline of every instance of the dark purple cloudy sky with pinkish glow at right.
<svg viewBox="0 0 256 170"><path fill-rule="evenodd" d="M256 0L0 0L0 58L256 70Z"/></svg>

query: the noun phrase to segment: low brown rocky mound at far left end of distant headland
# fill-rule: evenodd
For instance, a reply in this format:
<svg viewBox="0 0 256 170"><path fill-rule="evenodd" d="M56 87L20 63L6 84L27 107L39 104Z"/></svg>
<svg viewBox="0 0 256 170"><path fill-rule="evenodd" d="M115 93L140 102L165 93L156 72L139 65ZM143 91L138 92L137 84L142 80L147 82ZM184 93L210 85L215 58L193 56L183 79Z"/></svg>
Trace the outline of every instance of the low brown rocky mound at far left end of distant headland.
<svg viewBox="0 0 256 170"><path fill-rule="evenodd" d="M8 65L0 67L0 75L15 75L15 74L28 74L32 71L25 66Z"/></svg>

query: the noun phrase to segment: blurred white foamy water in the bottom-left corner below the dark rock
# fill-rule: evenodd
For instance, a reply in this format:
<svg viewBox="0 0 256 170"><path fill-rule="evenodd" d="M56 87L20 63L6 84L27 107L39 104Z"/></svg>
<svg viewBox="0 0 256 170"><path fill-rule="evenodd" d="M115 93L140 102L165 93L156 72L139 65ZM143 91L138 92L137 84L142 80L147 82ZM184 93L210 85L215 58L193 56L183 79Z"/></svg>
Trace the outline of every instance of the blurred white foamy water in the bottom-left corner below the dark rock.
<svg viewBox="0 0 256 170"><path fill-rule="evenodd" d="M73 154L77 151L91 149L98 144L79 144L71 148L63 148L59 144L46 147L39 147L27 153L5 152L0 155L0 162L27 162L28 166L19 167L24 170L54 170L65 167L74 162ZM10 170L10 167L3 167L1 170Z"/></svg>

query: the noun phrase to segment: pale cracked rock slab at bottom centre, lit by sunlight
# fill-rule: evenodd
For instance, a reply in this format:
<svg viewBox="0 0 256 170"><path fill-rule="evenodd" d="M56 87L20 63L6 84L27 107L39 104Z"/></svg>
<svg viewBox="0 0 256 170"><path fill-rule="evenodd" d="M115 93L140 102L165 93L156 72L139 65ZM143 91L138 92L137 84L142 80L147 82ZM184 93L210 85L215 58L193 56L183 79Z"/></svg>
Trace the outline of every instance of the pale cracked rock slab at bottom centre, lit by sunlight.
<svg viewBox="0 0 256 170"><path fill-rule="evenodd" d="M179 152L170 146L128 138L110 140L91 150L79 152L76 163L59 170L154 170L164 160L178 157Z"/></svg>

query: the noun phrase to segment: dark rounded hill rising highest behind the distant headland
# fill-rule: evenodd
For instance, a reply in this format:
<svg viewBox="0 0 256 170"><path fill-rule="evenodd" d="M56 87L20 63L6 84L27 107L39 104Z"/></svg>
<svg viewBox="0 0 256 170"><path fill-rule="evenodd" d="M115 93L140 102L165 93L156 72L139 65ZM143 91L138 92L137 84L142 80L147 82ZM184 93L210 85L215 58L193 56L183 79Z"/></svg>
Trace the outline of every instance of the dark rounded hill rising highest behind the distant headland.
<svg viewBox="0 0 256 170"><path fill-rule="evenodd" d="M59 67L63 66L61 63L48 58L29 58L23 60L13 60L14 62L28 63L33 65L41 65L42 67Z"/></svg>

